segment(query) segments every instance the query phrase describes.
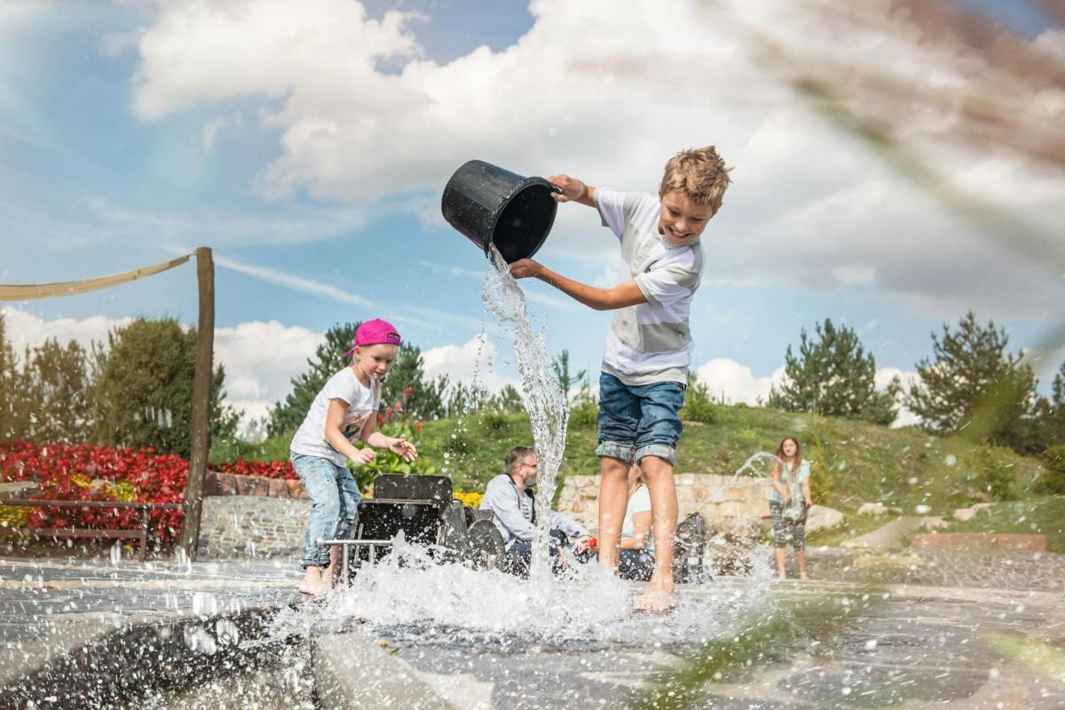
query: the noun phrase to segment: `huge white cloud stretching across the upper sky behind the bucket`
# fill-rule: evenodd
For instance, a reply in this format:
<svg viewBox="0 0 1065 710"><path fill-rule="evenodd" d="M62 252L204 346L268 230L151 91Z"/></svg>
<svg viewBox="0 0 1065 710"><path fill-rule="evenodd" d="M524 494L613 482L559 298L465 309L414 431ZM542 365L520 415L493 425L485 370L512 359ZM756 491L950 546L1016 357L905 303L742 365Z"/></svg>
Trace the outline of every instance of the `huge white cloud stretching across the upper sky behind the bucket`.
<svg viewBox="0 0 1065 710"><path fill-rule="evenodd" d="M470 158L651 192L668 155L715 143L736 168L708 227L707 282L846 286L907 296L936 315L1043 312L1061 299L1061 280L1037 263L1047 259L986 238L892 171L767 72L758 52L768 45L758 43L889 71L925 90L971 85L985 60L921 42L920 18L889 14L885 2L863 5L872 21L847 42L842 15L816 3L712 7L676 0L617 12L607 0L537 0L535 23L517 44L440 65L419 59L411 16L402 13L376 21L354 1L294 11L283 0L176 0L140 36L134 105L155 119L193 106L226 115L234 101L258 101L263 123L281 134L258 179L263 196L306 191L368 203L414 194L411 210L426 225L440 222L435 200L419 191L437 194ZM1036 42L1060 46L1055 34ZM386 73L376 63L387 57L409 61ZM1044 92L1020 103L1060 116L1055 101ZM952 184L1044 229L1065 221L1060 175L990 149L936 149L955 120L915 102L901 131ZM603 259L578 241L592 229L581 211L563 205L545 253Z"/></svg>

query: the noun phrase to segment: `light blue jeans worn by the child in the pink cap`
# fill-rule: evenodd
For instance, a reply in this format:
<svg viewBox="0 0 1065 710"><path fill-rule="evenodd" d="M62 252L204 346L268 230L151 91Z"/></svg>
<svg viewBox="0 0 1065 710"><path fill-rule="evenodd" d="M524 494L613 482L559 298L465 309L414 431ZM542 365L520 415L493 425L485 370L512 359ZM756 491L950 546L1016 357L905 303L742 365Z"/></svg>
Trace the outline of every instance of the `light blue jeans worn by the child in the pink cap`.
<svg viewBox="0 0 1065 710"><path fill-rule="evenodd" d="M329 459L302 453L292 455L292 467L299 475L307 495L311 496L311 516L304 533L304 559L300 564L328 567L329 548L317 547L314 541L342 540L351 532L359 510L359 485L346 466Z"/></svg>

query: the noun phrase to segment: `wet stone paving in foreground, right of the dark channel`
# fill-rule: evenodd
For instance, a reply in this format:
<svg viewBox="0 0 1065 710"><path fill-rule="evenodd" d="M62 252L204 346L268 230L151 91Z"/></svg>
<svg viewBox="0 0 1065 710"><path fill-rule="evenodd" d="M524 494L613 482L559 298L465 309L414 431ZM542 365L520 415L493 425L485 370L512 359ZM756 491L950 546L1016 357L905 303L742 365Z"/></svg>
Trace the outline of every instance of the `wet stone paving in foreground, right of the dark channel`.
<svg viewBox="0 0 1065 710"><path fill-rule="evenodd" d="M681 605L727 597L730 588L741 587L737 579L685 587ZM338 624L312 638L315 681L323 706L338 709L379 708L382 698L384 707L464 710L1065 706L1059 595L775 582L767 590L767 613L774 608L797 610L791 632L747 647L723 633L708 642L703 662L689 660L692 648L655 643L653 634L621 646L471 645L441 642L446 633L423 628L373 643L378 631ZM742 639L751 620L735 621ZM358 655L337 655L342 647ZM727 648L738 667L701 676L718 648ZM676 703L678 693L684 703Z"/></svg>

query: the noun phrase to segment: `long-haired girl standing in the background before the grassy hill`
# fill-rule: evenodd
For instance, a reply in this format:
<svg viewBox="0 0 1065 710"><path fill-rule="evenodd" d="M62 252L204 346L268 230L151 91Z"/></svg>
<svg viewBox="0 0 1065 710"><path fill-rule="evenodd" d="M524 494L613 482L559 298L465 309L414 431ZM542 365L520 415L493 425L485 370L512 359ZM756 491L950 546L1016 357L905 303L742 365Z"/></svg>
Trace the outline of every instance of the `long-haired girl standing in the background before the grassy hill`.
<svg viewBox="0 0 1065 710"><path fill-rule="evenodd" d="M814 505L809 494L809 463L803 461L799 442L788 436L776 449L773 481L769 490L769 517L773 523L776 574L786 579L784 548L791 541L799 578L806 577L806 511Z"/></svg>

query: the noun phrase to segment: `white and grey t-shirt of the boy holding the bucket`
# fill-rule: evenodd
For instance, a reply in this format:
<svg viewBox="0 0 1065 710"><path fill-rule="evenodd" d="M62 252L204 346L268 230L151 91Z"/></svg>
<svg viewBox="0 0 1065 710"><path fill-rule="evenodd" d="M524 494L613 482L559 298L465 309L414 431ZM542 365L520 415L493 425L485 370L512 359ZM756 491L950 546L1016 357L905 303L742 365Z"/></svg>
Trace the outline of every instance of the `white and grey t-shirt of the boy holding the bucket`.
<svg viewBox="0 0 1065 710"><path fill-rule="evenodd" d="M628 385L688 381L693 344L691 299L703 273L699 242L674 247L658 233L661 204L640 193L596 187L603 226L621 240L619 278L634 280L646 303L618 309L603 353L603 371Z"/></svg>

